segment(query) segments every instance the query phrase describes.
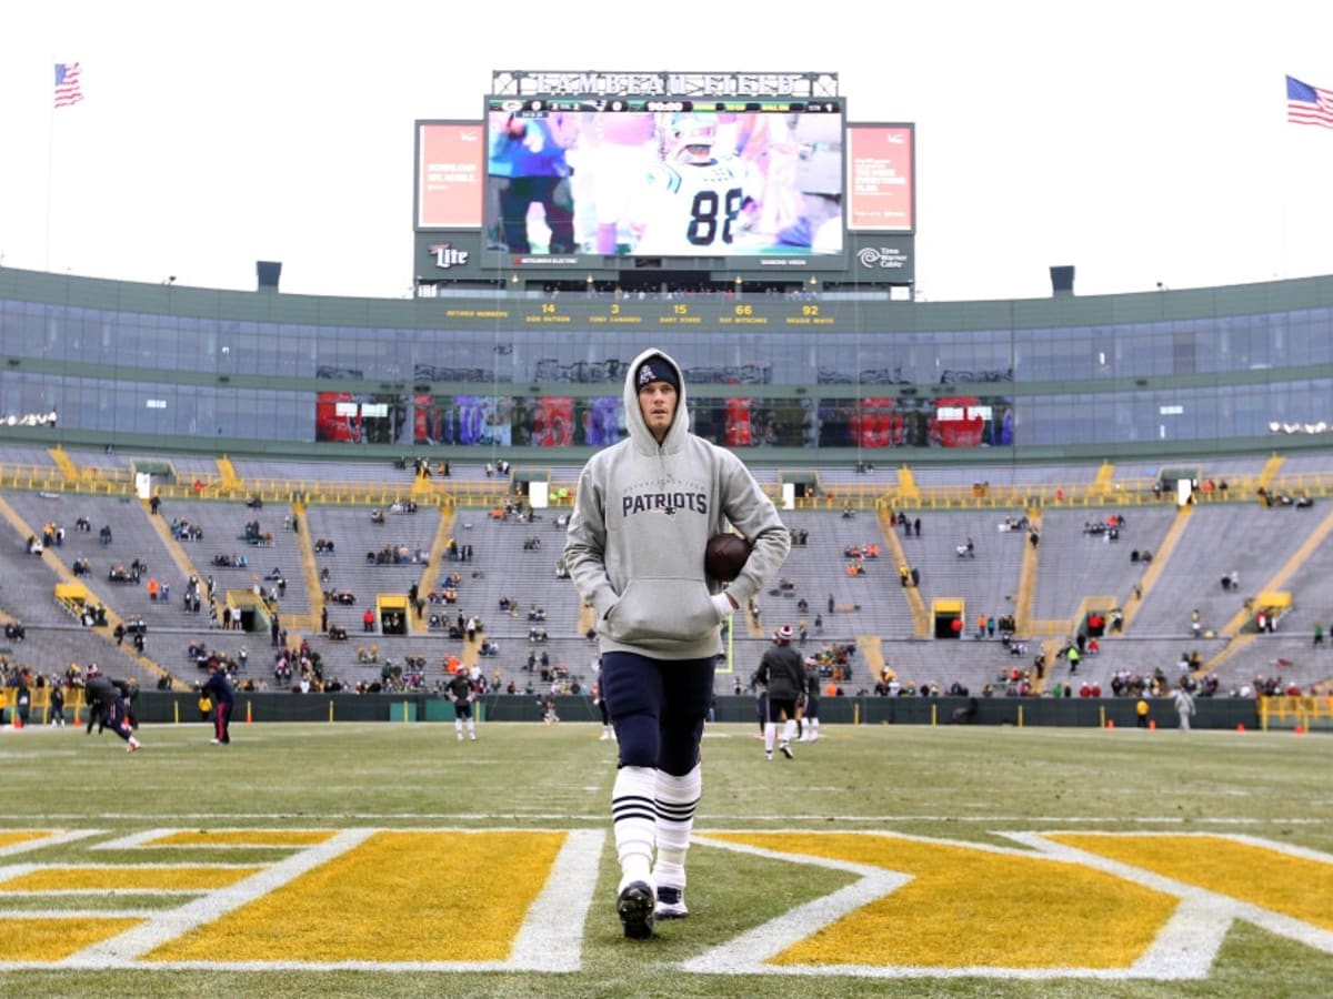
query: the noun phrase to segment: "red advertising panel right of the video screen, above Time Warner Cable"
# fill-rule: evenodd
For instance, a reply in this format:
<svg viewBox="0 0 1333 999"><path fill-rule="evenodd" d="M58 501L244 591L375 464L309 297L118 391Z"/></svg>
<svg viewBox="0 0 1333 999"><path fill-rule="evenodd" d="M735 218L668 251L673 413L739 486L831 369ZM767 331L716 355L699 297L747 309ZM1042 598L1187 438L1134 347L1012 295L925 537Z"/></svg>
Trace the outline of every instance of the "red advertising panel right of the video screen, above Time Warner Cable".
<svg viewBox="0 0 1333 999"><path fill-rule="evenodd" d="M848 229L916 230L913 140L912 125L848 127Z"/></svg>

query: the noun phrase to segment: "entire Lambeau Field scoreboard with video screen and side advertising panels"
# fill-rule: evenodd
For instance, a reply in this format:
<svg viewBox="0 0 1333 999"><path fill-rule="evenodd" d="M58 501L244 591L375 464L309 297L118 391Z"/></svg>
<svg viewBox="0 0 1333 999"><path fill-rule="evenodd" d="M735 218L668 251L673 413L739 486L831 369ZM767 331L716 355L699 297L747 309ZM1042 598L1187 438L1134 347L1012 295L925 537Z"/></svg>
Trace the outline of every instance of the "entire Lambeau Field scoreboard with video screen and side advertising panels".
<svg viewBox="0 0 1333 999"><path fill-rule="evenodd" d="M492 89L480 121L416 123L417 285L913 281L914 127L849 123L833 73Z"/></svg>

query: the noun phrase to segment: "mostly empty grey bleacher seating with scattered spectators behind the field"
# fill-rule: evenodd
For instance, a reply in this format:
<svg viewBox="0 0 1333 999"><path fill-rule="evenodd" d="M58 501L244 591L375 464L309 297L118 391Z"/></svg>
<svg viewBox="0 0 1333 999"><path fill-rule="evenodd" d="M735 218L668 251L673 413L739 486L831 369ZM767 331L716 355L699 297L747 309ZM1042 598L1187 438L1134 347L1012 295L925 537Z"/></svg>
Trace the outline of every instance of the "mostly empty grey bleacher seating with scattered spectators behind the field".
<svg viewBox="0 0 1333 999"><path fill-rule="evenodd" d="M56 472L53 460L44 449L17 448L0 454L9 464L41 465ZM131 454L103 454L101 452L72 452L68 458L93 477L99 469L109 469L116 476L128 476L139 458ZM163 461L153 458L153 461ZM217 462L199 456L172 458L177 477L193 474L216 477ZM1185 468L1189 462L1172 462ZM1325 462L1333 466L1333 462ZM393 469L385 462L321 464L321 462L263 462L237 461L233 468L241 480L249 477L300 477L329 482L411 482L411 470ZM1260 458L1212 461L1200 466L1202 474L1233 481L1232 502L1201 502L1188 514L1177 513L1166 497L1153 502L1141 494L1144 481L1152 481L1158 468L1126 466L1114 469L1110 480L1098 478L1094 466L1014 466L1004 470L977 472L966 468L921 469L914 473L918 489L957 490L950 496L961 501L922 503L920 511L909 510L909 518L921 517L922 531L917 538L901 529L885 535L876 510L860 505L854 517L841 517L842 500L821 503L820 509L784 510L789 529L805 531L808 542L796 546L780 577L786 585L773 581L768 591L760 594L760 618L752 622L737 615L732 643L732 673L718 677L718 693L730 693L737 679L748 682L769 642L773 629L782 623L796 627L800 621L808 626L806 650L814 651L828 642L854 642L858 653L852 663L852 675L842 683L849 695L873 687L880 663L893 669L904 682L937 683L946 689L953 681L965 683L973 693L1014 666L1030 665L1037 651L1034 639L1050 634L1072 634L1077 614L1089 597L1112 597L1132 603L1132 614L1124 634L1108 635L1096 657L1084 657L1078 677L1097 681L1109 689L1109 677L1116 670L1150 674L1161 669L1174 678L1176 663L1184 651L1197 651L1209 669L1216 669L1224 690L1250 683L1258 675L1280 675L1308 687L1333 677L1333 635L1321 649L1314 649L1310 633L1314 623L1325 630L1333 626L1333 546L1321 541L1325 510L1290 506L1264 507L1244 500L1242 489L1234 484L1253 484L1261 474L1273 474L1276 464ZM1266 472L1265 472L1266 470ZM1278 470L1274 482L1304 482L1306 476L1326 474L1330 469L1313 457L1293 460ZM59 473L56 473L59 474ZM459 481L483 480L480 465L456 465L453 476ZM1284 480L1282 476L1286 478ZM569 482L573 474L567 476ZM765 473L762 481L776 489L780 476ZM820 485L834 497L854 484L861 493L865 486L889 493L898 486L896 469L876 469L820 473ZM555 478L553 478L555 481ZM978 481L992 488L1033 488L1053 493L1057 488L1070 492L1068 505L1049 503L1041 510L1041 543L1036 553L1036 571L1030 599L1030 618L1050 629L1040 635L1021 635L1029 641L1022 657L1012 657L998 642L978 641L972 635L978 613L988 617L1016 610L1024 558L1028 553L1026 534L998 530L1005 517L1017 518L1026 513L1018 506L990 506L977 500L969 489ZM1105 489L1096 498L1097 490ZM1116 490L1140 490L1124 507L1108 505L1108 496ZM1086 494L1086 496L1084 496ZM1092 498L1089 498L1092 497ZM862 496L864 498L864 496ZM1214 497L1216 498L1216 497ZM28 627L29 638L12 650L13 658L29 659L43 671L63 669L69 661L112 661L116 669L140 671L141 682L151 687L155 675L143 663L117 650L105 629L84 629L53 598L55 585L68 578L57 571L56 563L69 567L76 555L92 563L91 575L84 579L95 599L119 617L141 615L148 622L147 654L177 675L180 682L193 682L197 674L185 661L185 646L200 639L219 649L235 653L241 645L249 647L249 674L271 681L271 658L267 635L233 635L209 633L207 618L196 618L181 606L184 581L193 567L201 578L213 575L220 590L249 587L265 582L263 577L279 570L287 579L287 593L280 601L284 625L295 637L308 637L324 657L325 675L339 677L349 685L379 681L380 670L388 659L401 665L407 657L427 661L428 686L443 675L443 665L449 657L472 661L476 647L448 637L444 629L431 629L428 615L460 610L464 617L476 615L484 625L484 635L499 646L499 655L477 659L489 677L499 670L501 683L513 681L517 690L529 685L544 689L537 673L524 667L529 650L545 651L552 665L561 666L571 678L592 681L595 643L583 635L581 602L569 581L556 578L556 562L561 555L564 531L556 525L561 513L547 510L531 522L493 519L488 509L463 507L452 511L452 533L459 543L472 545L471 562L443 562L431 566L420 555L428 553L441 525L441 513L435 506L423 505L415 514L392 514L385 510L385 523L371 522L369 509L359 505L323 503L316 496L303 515L303 534L285 530L292 507L267 502L263 510L252 510L244 502L192 500L179 493L163 505L161 521L184 518L204 529L204 539L171 545L163 541L147 507L137 500L116 496L88 496L85 493L52 493L11 489L5 500L16 518L33 533L40 534L43 523L53 521L65 529L60 547L36 558L24 554L27 534L16 525L0 525L4 541L0 545L0 614L20 619ZM1105 542L1100 535L1082 531L1085 519L1105 513L1121 513L1128 518L1118 541ZM92 533L76 533L77 517L88 517ZM240 534L247 521L259 519L264 533L273 535L272 547L247 546ZM101 546L97 529L112 527L113 542ZM351 605L329 605L332 623L347 629L347 642L333 642L317 633L317 611L321 594L307 587L305 549L316 538L336 541L332 555L315 555L316 570L328 569L331 590L355 594ZM960 558L956 547L973 539L976 558ZM540 547L532 546L533 538ZM1172 538L1169 551L1164 545ZM1318 543L1314 543L1314 542ZM367 558L368 553L384 546L404 546L405 562L379 563ZM866 574L852 577L845 569L844 550L864 545L878 545L880 557L866 561ZM962 641L918 638L908 594L898 582L897 545L908 563L920 573L918 594L926 607L934 599L962 599L966 606L966 631ZM1142 563L1130 559L1130 551L1152 550L1162 553L1152 575ZM219 551L244 551L249 566L244 570L223 569L212 565ZM111 583L107 570L112 562L129 563L139 558L147 571L137 586ZM1241 574L1238 590L1224 590L1220 578L1232 570ZM405 594L416 582L423 595L440 589L440 577L457 571L461 577L459 601L444 609L432 605L427 617L413 621L407 635L385 635L377 627L373 634L361 630L361 615L373 606L377 594ZM169 601L149 601L147 579L156 577L168 585ZM1144 585L1142 599L1132 599L1133 587ZM1276 634L1234 635L1237 615L1246 598L1264 587L1277 586L1293 595L1292 607L1278 622ZM321 586L323 589L323 586ZM503 613L500 598L513 601L516 610ZM828 613L832 597L836 611ZM800 599L808 602L802 614ZM528 611L533 606L545 610L544 622L531 622ZM1198 607L1205 630L1230 629L1217 637L1194 639L1189 630L1189 611ZM822 618L821 633L814 618ZM545 641L531 642L535 623L547 631ZM359 647L377 646L376 662L361 662ZM1068 679L1064 661L1050 663L1052 678Z"/></svg>

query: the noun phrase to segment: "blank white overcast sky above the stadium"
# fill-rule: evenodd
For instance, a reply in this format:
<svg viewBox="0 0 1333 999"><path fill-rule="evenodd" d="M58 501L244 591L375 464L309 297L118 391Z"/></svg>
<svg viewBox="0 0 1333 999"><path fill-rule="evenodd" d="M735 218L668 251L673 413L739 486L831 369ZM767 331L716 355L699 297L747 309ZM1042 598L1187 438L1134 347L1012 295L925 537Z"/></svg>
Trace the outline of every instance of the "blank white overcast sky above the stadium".
<svg viewBox="0 0 1333 999"><path fill-rule="evenodd" d="M1333 274L1333 129L1284 81L1333 89L1330 40L1328 0L12 4L0 264L403 297L412 123L480 119L493 69L817 71L917 124L924 298Z"/></svg>

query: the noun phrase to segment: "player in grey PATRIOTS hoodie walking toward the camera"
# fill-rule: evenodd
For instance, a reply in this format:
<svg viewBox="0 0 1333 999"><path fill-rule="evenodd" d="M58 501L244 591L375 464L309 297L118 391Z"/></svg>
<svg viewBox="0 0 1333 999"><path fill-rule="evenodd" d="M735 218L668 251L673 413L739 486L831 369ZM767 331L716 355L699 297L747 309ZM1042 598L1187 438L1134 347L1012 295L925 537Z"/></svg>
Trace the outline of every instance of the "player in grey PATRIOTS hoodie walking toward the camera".
<svg viewBox="0 0 1333 999"><path fill-rule="evenodd" d="M702 790L700 741L721 625L777 574L790 538L772 500L729 450L689 432L685 381L660 350L625 378L629 437L579 478L565 563L597 613L601 689L619 741L611 815L625 936L685 908L685 852ZM725 587L704 571L708 538L753 546Z"/></svg>

